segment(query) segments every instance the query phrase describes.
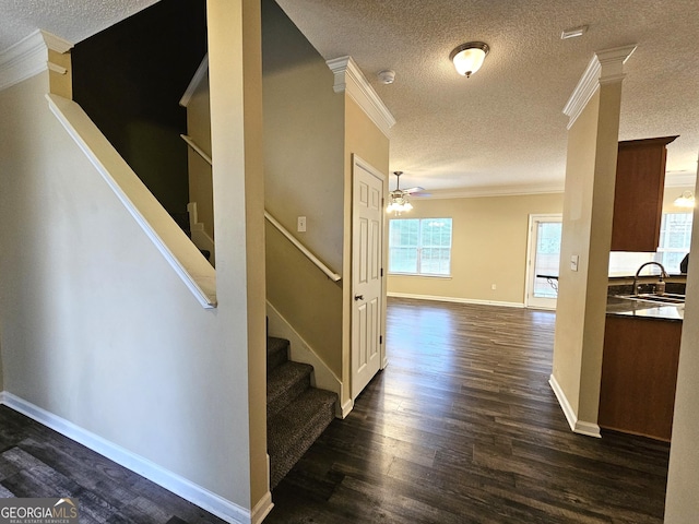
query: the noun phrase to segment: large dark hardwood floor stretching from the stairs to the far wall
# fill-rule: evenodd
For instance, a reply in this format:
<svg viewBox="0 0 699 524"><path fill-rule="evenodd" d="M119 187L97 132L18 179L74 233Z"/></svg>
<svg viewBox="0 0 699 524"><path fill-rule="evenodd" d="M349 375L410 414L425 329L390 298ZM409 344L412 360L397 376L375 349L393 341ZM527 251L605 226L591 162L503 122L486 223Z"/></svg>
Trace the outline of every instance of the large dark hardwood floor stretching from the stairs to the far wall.
<svg viewBox="0 0 699 524"><path fill-rule="evenodd" d="M665 443L570 431L555 314L389 299L389 367L273 492L265 524L661 523Z"/></svg>

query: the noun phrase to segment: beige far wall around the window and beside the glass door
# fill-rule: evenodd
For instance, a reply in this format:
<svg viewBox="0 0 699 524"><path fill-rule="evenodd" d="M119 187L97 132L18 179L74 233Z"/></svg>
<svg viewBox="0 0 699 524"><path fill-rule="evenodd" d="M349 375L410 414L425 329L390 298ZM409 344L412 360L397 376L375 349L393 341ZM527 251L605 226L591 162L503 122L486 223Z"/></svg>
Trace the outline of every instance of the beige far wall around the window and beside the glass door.
<svg viewBox="0 0 699 524"><path fill-rule="evenodd" d="M393 275L389 293L524 303L529 215L561 213L562 200L562 193L413 199L402 217L453 219L451 278Z"/></svg>

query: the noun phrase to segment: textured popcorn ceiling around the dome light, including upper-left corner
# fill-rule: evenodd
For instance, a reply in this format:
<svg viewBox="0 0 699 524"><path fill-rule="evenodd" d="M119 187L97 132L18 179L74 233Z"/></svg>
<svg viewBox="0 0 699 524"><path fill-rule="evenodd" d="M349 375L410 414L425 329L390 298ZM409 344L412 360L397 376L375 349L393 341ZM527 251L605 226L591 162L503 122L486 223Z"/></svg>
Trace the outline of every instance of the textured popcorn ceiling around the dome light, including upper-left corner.
<svg viewBox="0 0 699 524"><path fill-rule="evenodd" d="M36 28L73 44L154 0L0 0L0 50ZM561 110L595 50L628 44L619 139L679 134L668 181L697 169L696 0L279 0L325 59L351 55L396 119L391 170L402 187L465 192L562 188ZM562 29L588 25L568 40ZM458 75L449 52L490 46ZM376 73L393 69L383 85Z"/></svg>

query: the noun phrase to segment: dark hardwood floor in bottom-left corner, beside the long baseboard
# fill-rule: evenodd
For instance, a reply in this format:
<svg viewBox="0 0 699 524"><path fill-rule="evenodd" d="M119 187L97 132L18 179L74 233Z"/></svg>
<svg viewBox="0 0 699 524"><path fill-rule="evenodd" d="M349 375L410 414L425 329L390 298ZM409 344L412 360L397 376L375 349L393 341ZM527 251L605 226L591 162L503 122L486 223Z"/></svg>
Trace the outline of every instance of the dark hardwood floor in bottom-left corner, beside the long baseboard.
<svg viewBox="0 0 699 524"><path fill-rule="evenodd" d="M224 522L5 406L0 406L0 497L74 498L81 524Z"/></svg>

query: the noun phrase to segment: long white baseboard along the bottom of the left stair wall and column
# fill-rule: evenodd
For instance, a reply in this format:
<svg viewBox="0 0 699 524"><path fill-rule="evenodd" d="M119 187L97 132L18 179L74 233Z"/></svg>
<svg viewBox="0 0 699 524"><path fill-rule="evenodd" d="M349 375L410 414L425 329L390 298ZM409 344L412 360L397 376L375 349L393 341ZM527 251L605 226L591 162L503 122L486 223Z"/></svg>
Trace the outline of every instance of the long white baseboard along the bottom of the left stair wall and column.
<svg viewBox="0 0 699 524"><path fill-rule="evenodd" d="M272 495L269 491L250 511L8 391L0 393L0 404L138 473L228 523L259 524L272 509Z"/></svg>

